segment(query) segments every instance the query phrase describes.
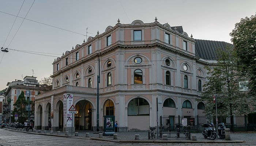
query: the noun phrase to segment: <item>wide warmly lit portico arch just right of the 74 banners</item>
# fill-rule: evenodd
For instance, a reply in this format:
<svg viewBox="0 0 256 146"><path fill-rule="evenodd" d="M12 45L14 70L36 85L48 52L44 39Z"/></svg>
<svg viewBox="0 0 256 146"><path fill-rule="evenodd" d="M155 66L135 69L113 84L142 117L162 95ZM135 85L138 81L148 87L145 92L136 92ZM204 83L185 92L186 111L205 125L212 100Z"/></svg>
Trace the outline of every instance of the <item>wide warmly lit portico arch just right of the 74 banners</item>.
<svg viewBox="0 0 256 146"><path fill-rule="evenodd" d="M75 130L93 130L93 105L90 101L80 100L76 103L75 108L78 111L75 114Z"/></svg>

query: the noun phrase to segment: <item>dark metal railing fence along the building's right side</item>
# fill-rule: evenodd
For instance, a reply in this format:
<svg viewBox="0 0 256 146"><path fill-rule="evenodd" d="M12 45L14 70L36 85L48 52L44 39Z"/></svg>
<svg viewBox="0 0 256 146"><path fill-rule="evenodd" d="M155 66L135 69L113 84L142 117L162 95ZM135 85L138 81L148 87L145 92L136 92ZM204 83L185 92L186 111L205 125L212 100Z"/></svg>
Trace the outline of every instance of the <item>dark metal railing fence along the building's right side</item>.
<svg viewBox="0 0 256 146"><path fill-rule="evenodd" d="M212 122L216 126L216 116L169 116L160 117L163 131L176 131L176 124L190 125L191 131L203 131L204 123ZM256 123L248 123L247 116L218 116L218 123L224 123L231 131L255 131ZM232 124L233 123L233 124ZM182 129L181 129L182 130Z"/></svg>

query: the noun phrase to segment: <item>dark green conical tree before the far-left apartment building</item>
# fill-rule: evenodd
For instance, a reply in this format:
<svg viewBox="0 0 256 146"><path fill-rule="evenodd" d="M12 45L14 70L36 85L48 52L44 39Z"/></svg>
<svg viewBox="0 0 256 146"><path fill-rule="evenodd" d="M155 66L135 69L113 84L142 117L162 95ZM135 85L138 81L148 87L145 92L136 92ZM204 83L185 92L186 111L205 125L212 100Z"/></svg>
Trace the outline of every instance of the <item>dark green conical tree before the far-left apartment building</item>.
<svg viewBox="0 0 256 146"><path fill-rule="evenodd" d="M13 111L13 115L14 114L18 114L19 118L18 118L18 122L20 123L24 123L27 120L28 117L28 113L27 113L27 105L28 105L28 101L26 100L25 96L24 96L24 92L22 91L18 97L18 99L16 100L16 102L13 104L14 105L14 111Z"/></svg>

